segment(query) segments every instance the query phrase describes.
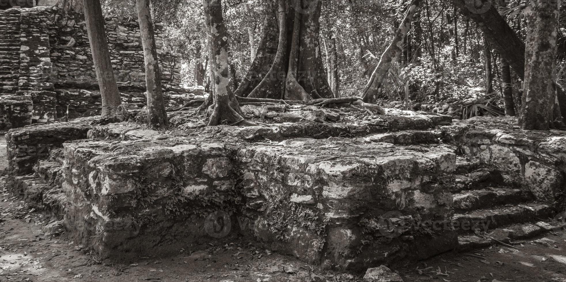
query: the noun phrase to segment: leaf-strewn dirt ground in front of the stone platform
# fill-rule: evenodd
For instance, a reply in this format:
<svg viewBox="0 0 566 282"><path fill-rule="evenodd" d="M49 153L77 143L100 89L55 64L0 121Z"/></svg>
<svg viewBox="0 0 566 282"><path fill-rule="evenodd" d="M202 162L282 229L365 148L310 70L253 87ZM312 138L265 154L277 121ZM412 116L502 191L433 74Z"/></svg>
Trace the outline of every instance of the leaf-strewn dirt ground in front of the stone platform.
<svg viewBox="0 0 566 282"><path fill-rule="evenodd" d="M5 167L1 136L0 171ZM46 237L42 227L53 219L9 192L5 177L0 177L0 195L0 281L363 281L363 274L323 271L238 241L192 254L179 250L174 257L97 261L64 234ZM518 249L447 253L395 270L406 282L566 281L565 239L564 233L549 233Z"/></svg>

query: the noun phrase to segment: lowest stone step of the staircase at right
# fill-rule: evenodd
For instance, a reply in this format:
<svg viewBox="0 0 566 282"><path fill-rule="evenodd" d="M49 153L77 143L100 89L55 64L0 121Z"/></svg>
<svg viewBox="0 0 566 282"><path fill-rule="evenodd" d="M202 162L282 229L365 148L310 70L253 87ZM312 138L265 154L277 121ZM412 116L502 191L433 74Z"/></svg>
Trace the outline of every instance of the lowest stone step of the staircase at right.
<svg viewBox="0 0 566 282"><path fill-rule="evenodd" d="M460 235L458 236L458 251L469 251L479 248L487 248L498 244L495 240L510 244L517 240L531 240L543 233L564 230L564 222L539 221L533 223L512 224L504 228L496 228L490 233L483 235Z"/></svg>

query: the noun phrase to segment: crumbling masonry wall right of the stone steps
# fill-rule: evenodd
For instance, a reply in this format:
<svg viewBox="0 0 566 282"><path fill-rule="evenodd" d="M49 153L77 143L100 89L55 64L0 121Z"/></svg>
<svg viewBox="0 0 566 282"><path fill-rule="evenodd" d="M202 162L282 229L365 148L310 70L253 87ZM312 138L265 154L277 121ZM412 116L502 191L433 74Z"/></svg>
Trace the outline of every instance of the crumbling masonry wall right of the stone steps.
<svg viewBox="0 0 566 282"><path fill-rule="evenodd" d="M445 127L462 153L501 173L540 202L566 209L566 137L563 131L524 131L509 118L477 117Z"/></svg>

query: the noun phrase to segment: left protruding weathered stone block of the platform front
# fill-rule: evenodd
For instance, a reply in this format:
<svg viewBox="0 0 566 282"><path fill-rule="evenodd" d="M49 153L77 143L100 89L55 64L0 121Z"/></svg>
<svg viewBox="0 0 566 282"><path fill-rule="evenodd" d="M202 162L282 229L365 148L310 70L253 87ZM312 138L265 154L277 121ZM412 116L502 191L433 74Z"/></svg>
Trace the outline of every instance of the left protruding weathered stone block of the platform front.
<svg viewBox="0 0 566 282"><path fill-rule="evenodd" d="M221 143L183 140L65 144L63 188L77 203L67 227L104 256L173 253L214 240L204 217L234 209L238 198L235 166L226 154ZM80 220L92 228L78 232ZM130 227L117 231L116 224ZM163 238L170 238L166 246L158 244Z"/></svg>

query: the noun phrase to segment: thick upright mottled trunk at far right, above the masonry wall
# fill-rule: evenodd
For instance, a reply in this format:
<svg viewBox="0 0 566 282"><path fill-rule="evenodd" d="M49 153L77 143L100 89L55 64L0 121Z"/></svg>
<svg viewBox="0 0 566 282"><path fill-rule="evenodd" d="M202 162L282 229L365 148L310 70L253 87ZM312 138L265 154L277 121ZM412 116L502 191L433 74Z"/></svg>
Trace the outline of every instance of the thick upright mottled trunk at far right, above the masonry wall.
<svg viewBox="0 0 566 282"><path fill-rule="evenodd" d="M556 101L556 40L560 1L531 0L525 53L523 110L519 123L523 129L547 130L554 121Z"/></svg>

